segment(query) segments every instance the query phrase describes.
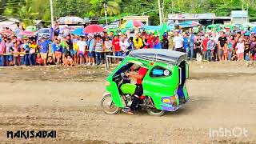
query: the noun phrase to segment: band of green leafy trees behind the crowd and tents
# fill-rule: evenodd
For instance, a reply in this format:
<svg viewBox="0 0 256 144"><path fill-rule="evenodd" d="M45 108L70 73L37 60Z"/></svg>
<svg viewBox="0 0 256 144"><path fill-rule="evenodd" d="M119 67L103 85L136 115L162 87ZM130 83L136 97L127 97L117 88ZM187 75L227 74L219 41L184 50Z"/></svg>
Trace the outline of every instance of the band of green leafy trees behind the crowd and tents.
<svg viewBox="0 0 256 144"><path fill-rule="evenodd" d="M149 15L152 25L159 24L157 0L53 0L54 17L109 17ZM174 3L174 9L172 9ZM231 10L249 8L250 19L256 20L255 0L161 0L164 17L175 13L215 13L228 16ZM49 0L0 0L0 14L21 19L50 20Z"/></svg>

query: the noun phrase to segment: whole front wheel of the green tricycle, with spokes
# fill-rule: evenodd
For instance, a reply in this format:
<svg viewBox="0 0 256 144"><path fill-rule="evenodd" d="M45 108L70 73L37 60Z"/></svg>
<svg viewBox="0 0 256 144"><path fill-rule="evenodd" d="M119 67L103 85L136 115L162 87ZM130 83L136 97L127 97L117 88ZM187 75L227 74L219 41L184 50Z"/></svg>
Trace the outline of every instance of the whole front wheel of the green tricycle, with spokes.
<svg viewBox="0 0 256 144"><path fill-rule="evenodd" d="M111 94L106 94L101 101L101 108L106 114L117 114L119 107L114 105Z"/></svg>

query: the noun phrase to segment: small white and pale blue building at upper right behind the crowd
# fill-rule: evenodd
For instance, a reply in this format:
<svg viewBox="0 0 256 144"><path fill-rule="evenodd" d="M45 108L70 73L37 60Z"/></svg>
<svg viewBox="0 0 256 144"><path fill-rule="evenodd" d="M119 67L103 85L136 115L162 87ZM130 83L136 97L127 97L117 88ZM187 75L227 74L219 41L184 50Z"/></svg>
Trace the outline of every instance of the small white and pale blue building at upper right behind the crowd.
<svg viewBox="0 0 256 144"><path fill-rule="evenodd" d="M235 24L244 24L249 22L248 10L232 10L231 22Z"/></svg>

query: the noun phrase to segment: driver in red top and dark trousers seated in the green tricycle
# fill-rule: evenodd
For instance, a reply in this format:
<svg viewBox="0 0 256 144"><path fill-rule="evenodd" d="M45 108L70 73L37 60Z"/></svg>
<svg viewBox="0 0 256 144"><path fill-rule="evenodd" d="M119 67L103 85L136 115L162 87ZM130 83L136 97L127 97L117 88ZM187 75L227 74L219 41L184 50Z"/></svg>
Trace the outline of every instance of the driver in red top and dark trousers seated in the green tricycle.
<svg viewBox="0 0 256 144"><path fill-rule="evenodd" d="M135 72L135 70L138 70L138 73ZM133 114L132 111L138 105L139 97L142 96L143 94L142 79L146 75L146 72L147 72L146 68L142 66L139 66L139 68L138 67L136 68L136 65L134 65L131 67L131 72L126 74L128 77L134 78L137 80L136 82L137 87L135 89L133 102L131 103L130 108L122 109L123 112L127 114Z"/></svg>

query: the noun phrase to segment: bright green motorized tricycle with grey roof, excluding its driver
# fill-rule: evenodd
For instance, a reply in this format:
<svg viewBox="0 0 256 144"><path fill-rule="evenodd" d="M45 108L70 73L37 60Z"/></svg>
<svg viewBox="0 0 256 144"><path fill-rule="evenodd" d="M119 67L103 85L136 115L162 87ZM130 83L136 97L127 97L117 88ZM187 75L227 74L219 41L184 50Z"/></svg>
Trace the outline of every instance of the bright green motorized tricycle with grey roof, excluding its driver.
<svg viewBox="0 0 256 144"><path fill-rule="evenodd" d="M106 94L101 101L106 114L117 114L121 108L129 107L136 85L126 77L131 66L145 67L147 73L142 80L143 95L139 108L151 115L162 115L166 111L178 110L189 101L186 79L189 66L186 53L174 50L133 50L106 78Z"/></svg>

